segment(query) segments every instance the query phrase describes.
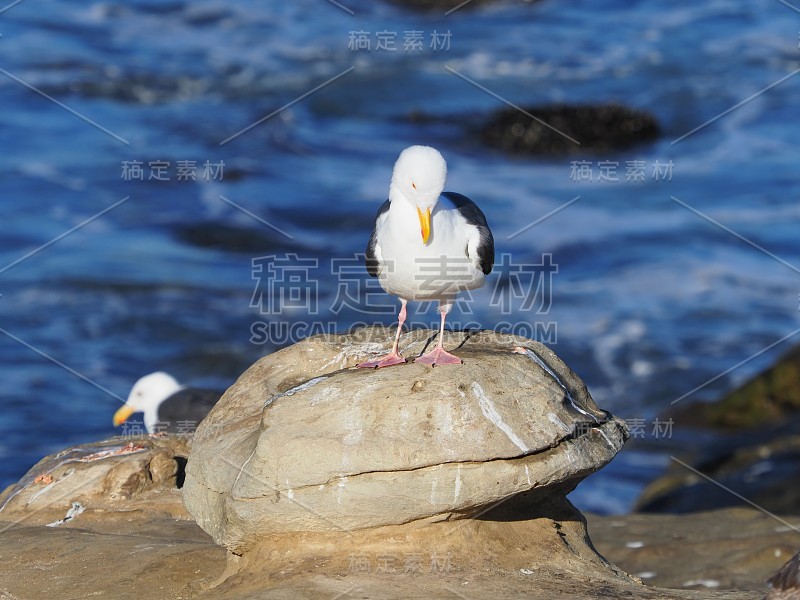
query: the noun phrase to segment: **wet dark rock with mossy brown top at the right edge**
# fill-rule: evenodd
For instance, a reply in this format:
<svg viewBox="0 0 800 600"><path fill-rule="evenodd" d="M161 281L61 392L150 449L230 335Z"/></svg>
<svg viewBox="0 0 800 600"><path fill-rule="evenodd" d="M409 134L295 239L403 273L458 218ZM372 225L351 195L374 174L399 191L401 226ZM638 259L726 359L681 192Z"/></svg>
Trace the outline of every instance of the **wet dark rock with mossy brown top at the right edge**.
<svg viewBox="0 0 800 600"><path fill-rule="evenodd" d="M800 348L714 403L680 406L675 462L642 492L638 510L686 513L736 506L718 483L776 513L800 513ZM691 433L694 432L694 433ZM716 483L715 483L716 482Z"/></svg>

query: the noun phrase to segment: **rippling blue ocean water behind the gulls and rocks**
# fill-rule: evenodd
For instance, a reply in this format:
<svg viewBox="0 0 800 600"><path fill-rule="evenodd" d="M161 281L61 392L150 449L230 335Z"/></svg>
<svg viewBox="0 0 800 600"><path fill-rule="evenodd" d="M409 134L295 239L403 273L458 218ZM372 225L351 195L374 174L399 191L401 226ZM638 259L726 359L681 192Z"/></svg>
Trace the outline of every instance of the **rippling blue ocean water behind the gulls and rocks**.
<svg viewBox="0 0 800 600"><path fill-rule="evenodd" d="M391 323L342 281L368 290L355 253L414 143L443 152L448 188L480 202L511 265L452 323L538 335L646 438L667 434L653 422L671 401L800 327L800 14L769 0L340 5L0 7L0 488L118 432L118 398L145 373L229 385L287 341L259 323L295 337ZM504 101L619 101L664 135L509 158L474 137ZM545 255L557 273L526 306ZM306 270L274 314L265 273L289 259ZM423 308L411 320L435 325ZM626 450L573 497L624 512L668 462Z"/></svg>

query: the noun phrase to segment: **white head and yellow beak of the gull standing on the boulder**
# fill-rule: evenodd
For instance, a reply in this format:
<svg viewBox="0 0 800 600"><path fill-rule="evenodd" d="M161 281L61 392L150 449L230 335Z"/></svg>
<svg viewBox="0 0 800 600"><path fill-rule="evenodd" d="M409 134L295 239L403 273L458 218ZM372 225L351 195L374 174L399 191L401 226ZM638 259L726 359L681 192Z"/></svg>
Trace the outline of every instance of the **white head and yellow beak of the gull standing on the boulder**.
<svg viewBox="0 0 800 600"><path fill-rule="evenodd" d="M445 179L447 163L441 153L430 146L409 146L394 163L392 188L416 207L424 244L428 243L431 212L444 190Z"/></svg>

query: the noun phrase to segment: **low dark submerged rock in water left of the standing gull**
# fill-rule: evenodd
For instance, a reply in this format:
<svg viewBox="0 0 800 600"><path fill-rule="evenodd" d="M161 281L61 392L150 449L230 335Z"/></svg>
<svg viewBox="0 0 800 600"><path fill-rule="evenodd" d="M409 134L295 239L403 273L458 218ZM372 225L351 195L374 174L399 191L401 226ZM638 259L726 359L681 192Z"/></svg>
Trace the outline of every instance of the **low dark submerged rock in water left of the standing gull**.
<svg viewBox="0 0 800 600"><path fill-rule="evenodd" d="M262 231L208 222L179 225L174 232L180 241L191 246L225 252L268 254L302 249L288 237L266 228Z"/></svg>

